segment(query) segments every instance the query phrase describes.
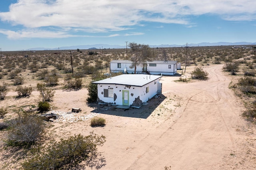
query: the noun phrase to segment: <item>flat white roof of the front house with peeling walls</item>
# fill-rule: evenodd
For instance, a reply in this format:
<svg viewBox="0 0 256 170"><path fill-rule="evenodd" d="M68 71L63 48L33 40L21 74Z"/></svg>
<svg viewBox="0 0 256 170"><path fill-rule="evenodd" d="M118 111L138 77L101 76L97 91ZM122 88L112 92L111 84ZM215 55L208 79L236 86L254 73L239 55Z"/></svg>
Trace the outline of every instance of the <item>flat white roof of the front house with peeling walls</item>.
<svg viewBox="0 0 256 170"><path fill-rule="evenodd" d="M147 75L147 74L122 74L115 77L110 77L100 81L94 81L95 84L116 84L116 85L131 85L142 87L156 79L162 77L161 75Z"/></svg>

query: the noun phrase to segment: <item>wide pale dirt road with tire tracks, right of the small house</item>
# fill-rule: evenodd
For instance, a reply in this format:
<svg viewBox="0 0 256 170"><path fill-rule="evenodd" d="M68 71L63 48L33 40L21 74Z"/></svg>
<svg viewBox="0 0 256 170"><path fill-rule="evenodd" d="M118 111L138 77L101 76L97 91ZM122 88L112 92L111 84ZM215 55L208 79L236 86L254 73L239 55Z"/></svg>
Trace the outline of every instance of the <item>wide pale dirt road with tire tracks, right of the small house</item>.
<svg viewBox="0 0 256 170"><path fill-rule="evenodd" d="M154 117L154 112L147 119L115 117L105 128L95 129L107 137L102 148L107 164L102 169L254 169L244 158L247 146L242 140L254 136L247 133L239 116L243 105L228 89L231 80L221 68L205 67L207 81L162 78L166 99L161 104L168 107L172 103L166 101L180 96L172 118Z"/></svg>

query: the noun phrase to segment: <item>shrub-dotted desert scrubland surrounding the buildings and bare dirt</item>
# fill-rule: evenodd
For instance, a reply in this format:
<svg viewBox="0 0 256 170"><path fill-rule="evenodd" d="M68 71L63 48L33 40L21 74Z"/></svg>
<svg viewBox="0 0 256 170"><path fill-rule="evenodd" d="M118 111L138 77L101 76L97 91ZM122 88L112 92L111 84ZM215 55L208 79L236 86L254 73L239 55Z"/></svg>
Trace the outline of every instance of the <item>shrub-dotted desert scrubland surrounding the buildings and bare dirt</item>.
<svg viewBox="0 0 256 170"><path fill-rule="evenodd" d="M143 60L175 60L182 63L182 68L183 66L193 67L194 70L191 72L178 71L178 74L186 75L186 78L180 77L180 81L186 83L198 81L197 79L207 80L208 73L204 71L204 67L223 64L224 73L232 77L230 88L234 89L234 93L246 106L246 111L242 115L252 122L256 119L256 55L251 51L250 46L152 49L148 45L130 43L130 47L134 49L129 49L128 59L133 61L138 59L132 55L136 53L135 46L141 47L140 57ZM104 166L104 159L100 157L96 148L105 142L104 136L93 133L89 136L78 134L65 136L66 138L55 141L49 137L50 132L47 133L47 128L53 125L44 122L40 113L54 107L51 102L54 100L56 89L87 88L87 102L96 102L97 85L92 82L107 78L103 73L109 72L109 62L112 59L126 59L126 49L77 49L72 51L72 65L69 51L36 51L35 53L26 51L25 53L28 57L24 57L23 51L3 52L4 57L0 59L2 82L0 102L11 98L7 96L8 92L18 93L16 100L26 101L33 91L39 92L40 101L39 103L35 101L34 105L38 107L31 109L30 113L24 112L23 106L16 106L12 103L0 108L0 132L2 136L8 134L8 137L3 138L6 142L1 147L18 147L17 153L25 156L17 157L16 162L24 169L34 167L37 167L36 169L72 169L84 166L100 168ZM145 53L150 57L145 57ZM105 123L105 119L94 117L90 126L104 126ZM41 147L42 144L45 147ZM100 163L96 164L94 161ZM9 166L6 169L8 168Z"/></svg>

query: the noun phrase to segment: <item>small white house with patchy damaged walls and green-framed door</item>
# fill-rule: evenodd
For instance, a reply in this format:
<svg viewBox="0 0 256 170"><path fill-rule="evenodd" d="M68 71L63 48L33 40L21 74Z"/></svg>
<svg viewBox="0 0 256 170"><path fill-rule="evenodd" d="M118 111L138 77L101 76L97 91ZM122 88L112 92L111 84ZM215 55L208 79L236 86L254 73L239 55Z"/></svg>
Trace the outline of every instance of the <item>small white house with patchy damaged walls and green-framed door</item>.
<svg viewBox="0 0 256 170"><path fill-rule="evenodd" d="M162 93L160 75L123 74L93 83L98 87L98 102L140 107Z"/></svg>

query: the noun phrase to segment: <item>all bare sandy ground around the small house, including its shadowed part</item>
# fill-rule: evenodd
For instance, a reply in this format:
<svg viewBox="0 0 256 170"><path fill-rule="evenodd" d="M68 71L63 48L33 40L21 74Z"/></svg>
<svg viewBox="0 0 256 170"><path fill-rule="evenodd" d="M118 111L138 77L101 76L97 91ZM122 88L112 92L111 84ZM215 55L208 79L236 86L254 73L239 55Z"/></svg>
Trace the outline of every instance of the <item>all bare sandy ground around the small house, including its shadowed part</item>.
<svg viewBox="0 0 256 170"><path fill-rule="evenodd" d="M174 82L179 77L162 77L162 95L140 109L87 105L86 89L56 90L55 111L82 111L54 121L49 134L60 138L94 131L106 136L98 148L106 158L102 170L256 169L255 127L240 116L244 105L228 88L231 77L222 67L205 66L207 81L180 83ZM37 92L28 99L11 96L0 105L40 100ZM106 119L106 126L90 127L94 116Z"/></svg>

